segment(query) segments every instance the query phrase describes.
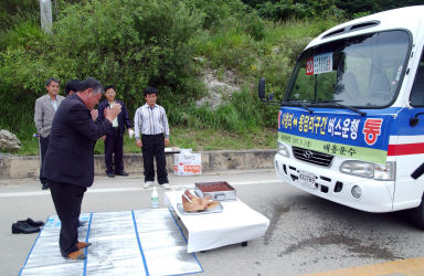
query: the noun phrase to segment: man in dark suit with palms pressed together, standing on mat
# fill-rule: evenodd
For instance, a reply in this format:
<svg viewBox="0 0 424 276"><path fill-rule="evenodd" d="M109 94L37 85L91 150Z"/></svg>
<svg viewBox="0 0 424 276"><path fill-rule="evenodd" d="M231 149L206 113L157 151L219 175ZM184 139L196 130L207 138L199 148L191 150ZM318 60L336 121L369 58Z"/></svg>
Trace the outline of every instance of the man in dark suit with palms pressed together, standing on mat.
<svg viewBox="0 0 424 276"><path fill-rule="evenodd" d="M94 180L94 144L110 128L120 105L105 110L105 120L95 123L91 110L104 93L102 84L88 77L78 92L66 97L53 119L43 173L49 180L54 206L61 220L59 244L64 257L84 259L78 242L78 216L84 192Z"/></svg>

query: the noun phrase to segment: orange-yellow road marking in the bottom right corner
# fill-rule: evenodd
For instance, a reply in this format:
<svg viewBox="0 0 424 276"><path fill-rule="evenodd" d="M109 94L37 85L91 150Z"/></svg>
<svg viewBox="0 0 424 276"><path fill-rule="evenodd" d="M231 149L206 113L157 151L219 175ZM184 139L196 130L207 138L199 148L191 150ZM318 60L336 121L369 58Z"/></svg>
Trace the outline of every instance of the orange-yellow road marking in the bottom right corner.
<svg viewBox="0 0 424 276"><path fill-rule="evenodd" d="M406 258L364 265L337 270L305 274L304 276L422 276L424 275L424 257Z"/></svg>

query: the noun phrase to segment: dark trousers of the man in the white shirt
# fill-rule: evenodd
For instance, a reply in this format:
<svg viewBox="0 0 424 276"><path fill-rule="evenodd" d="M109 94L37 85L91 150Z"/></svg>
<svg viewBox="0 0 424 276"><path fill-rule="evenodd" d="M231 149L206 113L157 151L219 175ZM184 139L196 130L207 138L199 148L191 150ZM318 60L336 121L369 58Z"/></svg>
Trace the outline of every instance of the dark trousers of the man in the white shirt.
<svg viewBox="0 0 424 276"><path fill-rule="evenodd" d="M155 181L153 157L159 184L168 183L167 160L165 159L165 137L160 135L142 135L142 162L145 166L145 182Z"/></svg>

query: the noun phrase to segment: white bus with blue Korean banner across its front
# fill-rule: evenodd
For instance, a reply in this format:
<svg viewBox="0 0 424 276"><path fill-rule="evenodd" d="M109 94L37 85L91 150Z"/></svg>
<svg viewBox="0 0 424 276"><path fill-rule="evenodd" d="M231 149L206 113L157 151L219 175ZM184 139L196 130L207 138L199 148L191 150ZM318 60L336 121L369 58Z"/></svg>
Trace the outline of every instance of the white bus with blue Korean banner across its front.
<svg viewBox="0 0 424 276"><path fill-rule="evenodd" d="M306 46L278 102L280 179L362 211L413 209L424 230L423 14L417 6L356 19ZM264 79L259 97L277 103Z"/></svg>

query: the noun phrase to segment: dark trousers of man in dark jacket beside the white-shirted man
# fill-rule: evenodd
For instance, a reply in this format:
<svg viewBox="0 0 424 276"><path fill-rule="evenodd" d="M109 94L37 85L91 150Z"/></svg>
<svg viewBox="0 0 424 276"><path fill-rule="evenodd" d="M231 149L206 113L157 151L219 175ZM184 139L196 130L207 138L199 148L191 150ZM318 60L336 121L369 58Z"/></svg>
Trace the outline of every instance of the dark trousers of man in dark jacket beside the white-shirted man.
<svg viewBox="0 0 424 276"><path fill-rule="evenodd" d="M115 153L115 162L113 155ZM106 135L105 139L105 162L106 173L124 171L124 135L119 128L112 128L112 132ZM115 170L114 170L115 163Z"/></svg>

